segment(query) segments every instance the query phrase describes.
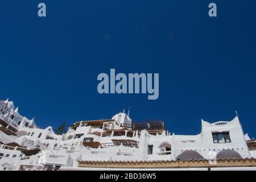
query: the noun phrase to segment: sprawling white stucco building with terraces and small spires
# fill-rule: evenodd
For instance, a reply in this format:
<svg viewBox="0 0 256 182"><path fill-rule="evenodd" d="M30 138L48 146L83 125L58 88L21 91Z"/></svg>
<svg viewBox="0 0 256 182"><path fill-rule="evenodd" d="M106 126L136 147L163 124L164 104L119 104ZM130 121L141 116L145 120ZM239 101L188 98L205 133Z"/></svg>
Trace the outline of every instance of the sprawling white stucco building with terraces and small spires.
<svg viewBox="0 0 256 182"><path fill-rule="evenodd" d="M175 135L164 122L133 123L123 112L111 119L75 122L67 133L56 135L51 126L40 129L35 119L22 117L13 102L0 100L0 170L256 158L255 140L243 133L238 117L214 123L202 119L201 127L198 135Z"/></svg>

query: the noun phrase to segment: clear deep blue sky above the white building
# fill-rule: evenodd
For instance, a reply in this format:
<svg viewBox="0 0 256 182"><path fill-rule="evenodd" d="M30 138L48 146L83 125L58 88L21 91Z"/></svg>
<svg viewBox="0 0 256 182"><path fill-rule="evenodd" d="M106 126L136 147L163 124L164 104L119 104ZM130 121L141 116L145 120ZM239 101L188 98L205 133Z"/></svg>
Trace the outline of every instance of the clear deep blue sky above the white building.
<svg viewBox="0 0 256 182"><path fill-rule="evenodd" d="M37 15L38 3L47 17ZM217 18L208 5L217 3ZM111 118L163 120L199 134L201 118L240 115L256 137L256 1L3 1L0 97L37 125ZM159 73L159 99L98 94L97 75Z"/></svg>

